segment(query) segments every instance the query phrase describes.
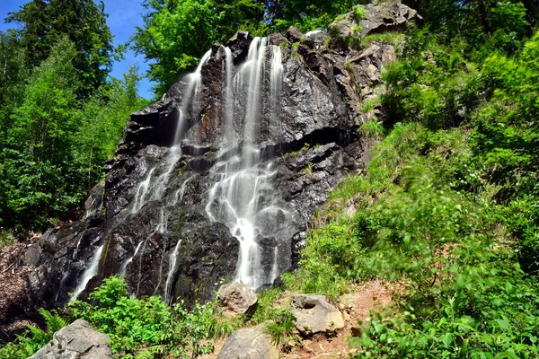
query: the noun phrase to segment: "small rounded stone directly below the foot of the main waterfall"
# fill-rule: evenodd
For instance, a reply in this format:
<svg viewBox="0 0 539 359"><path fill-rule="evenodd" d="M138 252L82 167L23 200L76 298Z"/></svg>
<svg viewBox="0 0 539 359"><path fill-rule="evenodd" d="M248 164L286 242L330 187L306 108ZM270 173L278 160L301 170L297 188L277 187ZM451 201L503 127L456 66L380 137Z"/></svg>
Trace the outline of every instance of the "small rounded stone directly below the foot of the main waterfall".
<svg viewBox="0 0 539 359"><path fill-rule="evenodd" d="M258 302L257 295L249 285L243 283L232 283L222 285L217 292L219 305L225 308L225 314L236 315L252 313Z"/></svg>

